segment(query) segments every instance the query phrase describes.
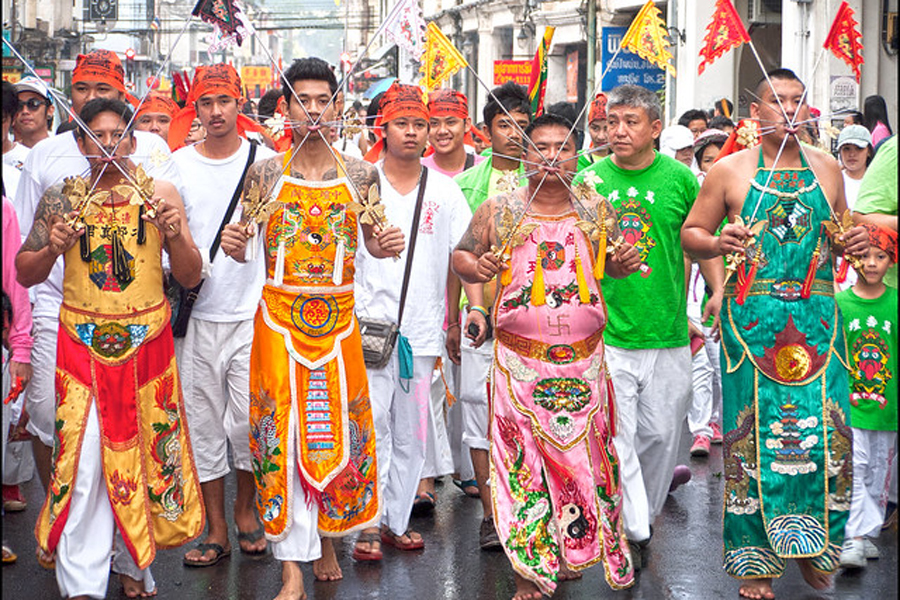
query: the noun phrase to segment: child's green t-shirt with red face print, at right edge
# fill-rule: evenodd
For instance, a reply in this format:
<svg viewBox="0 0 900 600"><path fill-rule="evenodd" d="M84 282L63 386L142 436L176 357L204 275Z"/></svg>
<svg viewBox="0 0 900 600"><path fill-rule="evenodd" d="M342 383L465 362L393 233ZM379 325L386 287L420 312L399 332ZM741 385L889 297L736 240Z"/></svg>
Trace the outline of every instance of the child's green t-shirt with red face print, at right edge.
<svg viewBox="0 0 900 600"><path fill-rule="evenodd" d="M844 316L850 361L850 425L897 431L897 290L860 298L835 296Z"/></svg>

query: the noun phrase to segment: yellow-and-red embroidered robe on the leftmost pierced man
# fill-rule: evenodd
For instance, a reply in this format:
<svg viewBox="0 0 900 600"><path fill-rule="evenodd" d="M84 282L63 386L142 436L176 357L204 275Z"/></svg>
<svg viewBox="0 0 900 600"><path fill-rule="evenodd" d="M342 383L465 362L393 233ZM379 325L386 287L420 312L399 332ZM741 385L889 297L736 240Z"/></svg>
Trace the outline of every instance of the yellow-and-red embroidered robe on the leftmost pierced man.
<svg viewBox="0 0 900 600"><path fill-rule="evenodd" d="M140 227L140 207L128 204L103 205L85 225L89 260L80 244L65 254L53 472L35 536L48 553L59 542L96 403L109 502L143 569L157 548L194 539L205 521L163 294L162 242L155 226ZM114 231L130 271L118 279Z"/></svg>

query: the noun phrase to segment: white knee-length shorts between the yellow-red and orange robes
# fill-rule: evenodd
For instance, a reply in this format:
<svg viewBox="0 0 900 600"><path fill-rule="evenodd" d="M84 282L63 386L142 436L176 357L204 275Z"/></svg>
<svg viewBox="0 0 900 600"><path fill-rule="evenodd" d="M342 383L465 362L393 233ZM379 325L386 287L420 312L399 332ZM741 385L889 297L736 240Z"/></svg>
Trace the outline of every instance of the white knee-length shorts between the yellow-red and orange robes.
<svg viewBox="0 0 900 600"><path fill-rule="evenodd" d="M250 471L250 346L253 321L191 319L175 355L200 483Z"/></svg>

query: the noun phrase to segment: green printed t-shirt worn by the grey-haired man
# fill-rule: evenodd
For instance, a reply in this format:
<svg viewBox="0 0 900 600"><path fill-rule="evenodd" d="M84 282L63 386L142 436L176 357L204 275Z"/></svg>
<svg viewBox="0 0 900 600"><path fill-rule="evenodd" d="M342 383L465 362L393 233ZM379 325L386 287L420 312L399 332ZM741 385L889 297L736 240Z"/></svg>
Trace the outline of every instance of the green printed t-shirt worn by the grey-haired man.
<svg viewBox="0 0 900 600"><path fill-rule="evenodd" d="M677 348L688 344L687 290L681 225L687 218L700 185L689 168L656 153L646 169L628 171L611 157L578 173L600 178L597 192L618 212L625 241L641 254L650 268L624 279L603 280L609 321L606 343L619 348Z"/></svg>

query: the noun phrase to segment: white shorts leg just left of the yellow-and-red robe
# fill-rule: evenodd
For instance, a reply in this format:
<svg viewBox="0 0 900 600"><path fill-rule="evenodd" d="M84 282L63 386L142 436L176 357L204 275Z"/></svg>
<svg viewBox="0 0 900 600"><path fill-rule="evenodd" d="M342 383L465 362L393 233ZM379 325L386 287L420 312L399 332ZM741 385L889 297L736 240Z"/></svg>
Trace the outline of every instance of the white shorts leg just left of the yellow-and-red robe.
<svg viewBox="0 0 900 600"><path fill-rule="evenodd" d="M28 424L25 429L45 446L53 447L56 424L56 336L59 319L35 317L31 368L34 374L25 392Z"/></svg>

